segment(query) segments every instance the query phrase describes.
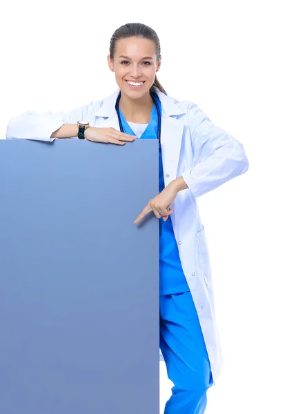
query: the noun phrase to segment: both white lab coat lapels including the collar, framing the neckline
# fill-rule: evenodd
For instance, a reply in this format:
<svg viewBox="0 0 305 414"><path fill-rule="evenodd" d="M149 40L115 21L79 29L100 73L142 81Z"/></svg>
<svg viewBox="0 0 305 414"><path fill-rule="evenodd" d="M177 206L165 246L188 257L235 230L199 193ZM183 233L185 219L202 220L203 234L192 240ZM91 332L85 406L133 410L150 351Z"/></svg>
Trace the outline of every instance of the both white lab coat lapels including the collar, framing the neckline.
<svg viewBox="0 0 305 414"><path fill-rule="evenodd" d="M117 89L112 95L103 100L103 105L95 113L96 117L104 117L103 128L115 128L119 130L119 119L115 110L115 103L119 95ZM155 89L161 101L161 154L164 170L164 184L177 177L181 141L184 132L183 122L177 119L177 115L183 115L175 104L174 99Z"/></svg>

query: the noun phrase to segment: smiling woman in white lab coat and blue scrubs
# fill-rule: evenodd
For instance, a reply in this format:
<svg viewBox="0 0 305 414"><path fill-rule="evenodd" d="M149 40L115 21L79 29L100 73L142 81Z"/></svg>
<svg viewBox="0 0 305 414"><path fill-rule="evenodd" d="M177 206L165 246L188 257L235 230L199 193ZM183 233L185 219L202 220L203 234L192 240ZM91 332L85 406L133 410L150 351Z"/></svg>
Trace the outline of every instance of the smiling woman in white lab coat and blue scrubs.
<svg viewBox="0 0 305 414"><path fill-rule="evenodd" d="M118 145L160 139L159 194L135 224L151 210L162 218L160 348L174 383L165 413L204 413L223 362L197 198L246 172L248 159L242 144L195 103L166 95L156 77L161 55L153 29L140 23L117 29L108 65L119 86L110 97L67 113L26 112L10 120L7 138L53 141L83 132L90 141Z"/></svg>

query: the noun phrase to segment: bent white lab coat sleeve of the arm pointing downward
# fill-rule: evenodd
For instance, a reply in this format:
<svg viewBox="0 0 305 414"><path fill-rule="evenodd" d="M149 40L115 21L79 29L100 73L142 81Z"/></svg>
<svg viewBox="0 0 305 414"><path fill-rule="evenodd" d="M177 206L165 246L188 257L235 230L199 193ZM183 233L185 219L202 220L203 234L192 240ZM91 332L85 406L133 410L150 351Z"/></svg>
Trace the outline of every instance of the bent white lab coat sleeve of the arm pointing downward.
<svg viewBox="0 0 305 414"><path fill-rule="evenodd" d="M182 177L194 197L200 197L248 170L244 146L213 124L195 103L188 106L193 168Z"/></svg>

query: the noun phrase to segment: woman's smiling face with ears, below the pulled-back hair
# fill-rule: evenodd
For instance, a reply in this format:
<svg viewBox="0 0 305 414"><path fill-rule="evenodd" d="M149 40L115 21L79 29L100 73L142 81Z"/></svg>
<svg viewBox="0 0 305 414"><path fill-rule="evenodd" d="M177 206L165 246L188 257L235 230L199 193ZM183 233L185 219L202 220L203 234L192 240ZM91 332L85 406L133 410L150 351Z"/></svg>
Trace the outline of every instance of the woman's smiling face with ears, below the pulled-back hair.
<svg viewBox="0 0 305 414"><path fill-rule="evenodd" d="M157 62L155 43L141 37L128 37L117 41L115 55L108 65L115 71L115 80L121 92L131 99L143 97L153 85L161 65ZM130 82L137 83L136 86Z"/></svg>

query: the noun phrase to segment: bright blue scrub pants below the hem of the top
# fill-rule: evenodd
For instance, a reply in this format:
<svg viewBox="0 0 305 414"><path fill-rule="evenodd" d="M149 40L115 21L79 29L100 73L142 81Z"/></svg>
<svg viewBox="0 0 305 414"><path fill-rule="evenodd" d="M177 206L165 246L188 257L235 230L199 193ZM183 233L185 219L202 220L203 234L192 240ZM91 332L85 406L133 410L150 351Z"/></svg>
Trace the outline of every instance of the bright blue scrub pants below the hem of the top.
<svg viewBox="0 0 305 414"><path fill-rule="evenodd" d="M164 414L203 414L213 379L193 297L161 295L159 303L160 349L174 384Z"/></svg>

